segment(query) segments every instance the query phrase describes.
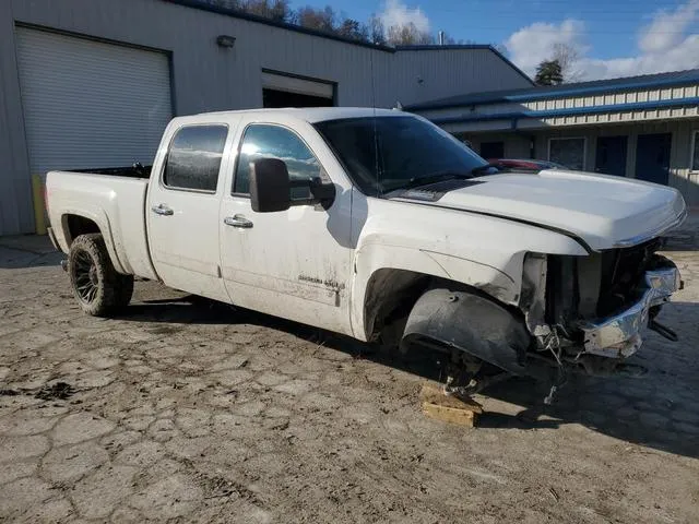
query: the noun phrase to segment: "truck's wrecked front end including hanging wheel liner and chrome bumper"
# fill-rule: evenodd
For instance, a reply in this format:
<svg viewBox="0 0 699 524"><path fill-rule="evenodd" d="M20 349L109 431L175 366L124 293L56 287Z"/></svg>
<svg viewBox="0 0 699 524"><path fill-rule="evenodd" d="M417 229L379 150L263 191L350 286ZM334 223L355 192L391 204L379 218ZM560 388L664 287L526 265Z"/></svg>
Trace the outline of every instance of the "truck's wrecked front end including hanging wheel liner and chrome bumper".
<svg viewBox="0 0 699 524"><path fill-rule="evenodd" d="M462 393L496 377L560 385L569 373L641 376L643 368L626 359L641 346L643 329L677 340L656 320L682 288L679 271L656 253L660 247L656 238L587 257L526 253L517 307L436 284L413 307L402 347L449 354L448 382Z"/></svg>

